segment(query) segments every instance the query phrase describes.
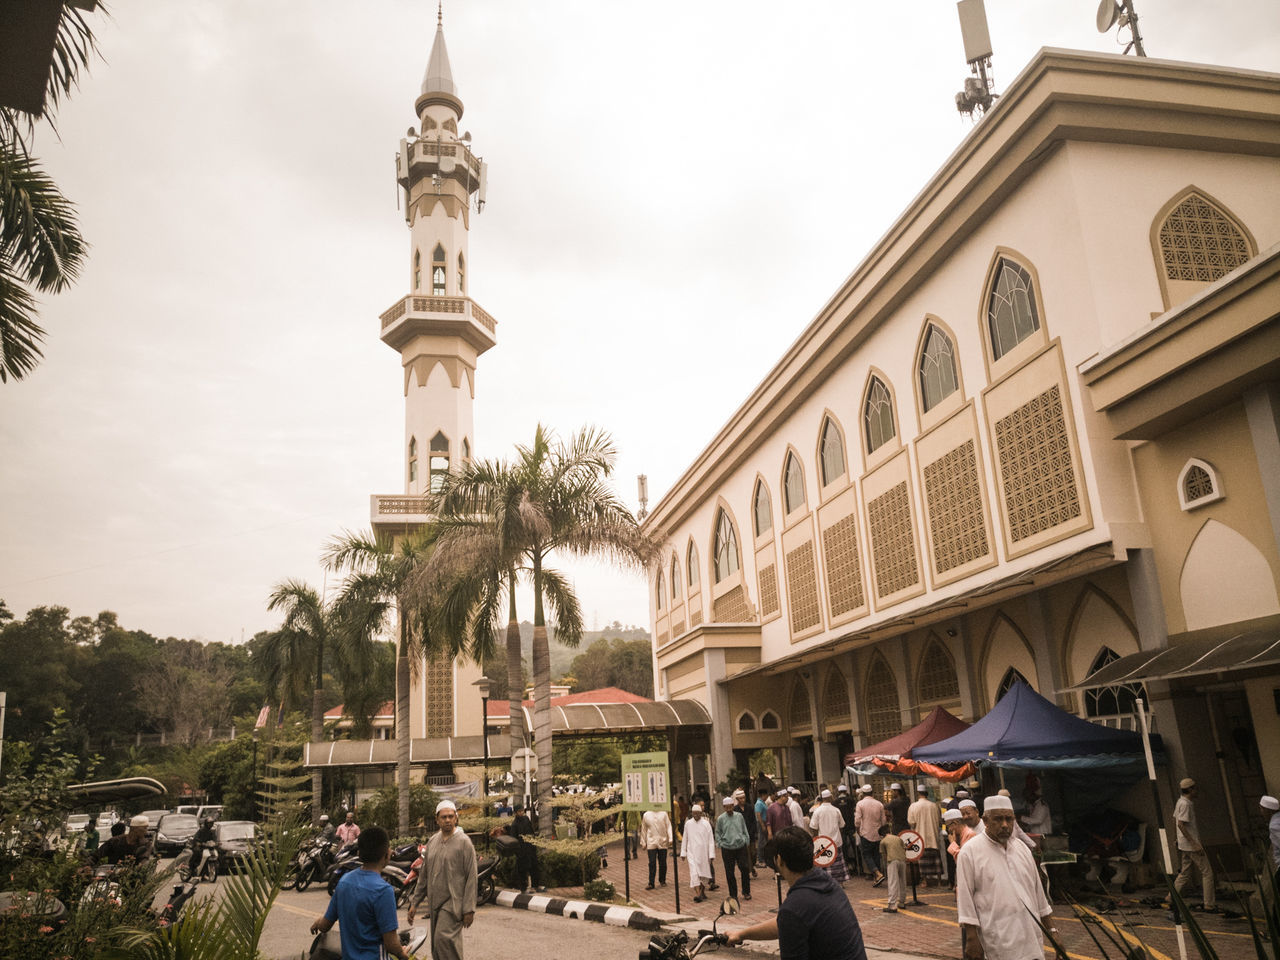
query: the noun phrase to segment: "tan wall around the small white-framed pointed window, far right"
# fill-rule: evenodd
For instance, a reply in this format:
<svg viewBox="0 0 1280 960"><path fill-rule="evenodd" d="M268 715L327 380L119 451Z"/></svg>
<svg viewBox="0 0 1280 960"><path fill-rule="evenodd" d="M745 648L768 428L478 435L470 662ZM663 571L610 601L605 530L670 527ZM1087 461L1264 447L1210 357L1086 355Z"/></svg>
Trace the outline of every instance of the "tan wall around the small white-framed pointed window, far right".
<svg viewBox="0 0 1280 960"><path fill-rule="evenodd" d="M1178 476L1192 457L1203 460L1215 468L1225 497L1216 503L1184 511L1178 502ZM1183 605L1183 573L1188 553L1211 520L1230 527L1257 550L1270 567L1272 591L1280 582L1280 556L1276 554L1275 538L1268 525L1258 524L1258 517L1267 516L1267 506L1243 407L1239 403L1228 404L1157 442L1140 444L1133 451L1133 462L1156 549L1169 632L1181 634L1208 626L1206 617L1230 623L1275 612L1274 593L1270 598L1261 598L1267 602L1267 611L1263 613L1253 609L1253 604L1260 600L1257 590L1247 596L1235 595L1239 580L1233 580L1230 556L1221 557L1216 568L1199 567L1203 576L1219 576L1216 584L1221 600L1217 616L1212 616L1212 611L1206 611L1203 602L1199 602L1193 621L1188 623Z"/></svg>

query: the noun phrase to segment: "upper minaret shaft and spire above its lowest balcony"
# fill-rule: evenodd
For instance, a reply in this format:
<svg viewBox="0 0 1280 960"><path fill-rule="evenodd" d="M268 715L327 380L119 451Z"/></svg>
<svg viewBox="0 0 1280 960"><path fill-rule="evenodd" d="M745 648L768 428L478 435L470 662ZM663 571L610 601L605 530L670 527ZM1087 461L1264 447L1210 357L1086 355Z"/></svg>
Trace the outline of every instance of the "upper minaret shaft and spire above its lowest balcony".
<svg viewBox="0 0 1280 960"><path fill-rule="evenodd" d="M485 164L458 136L462 101L453 84L438 17L422 91L419 132L401 141L396 178L410 228L408 296L383 314L383 342L404 367L404 493L422 495L433 477L472 456L476 358L497 342L497 324L468 296L467 236L472 195L484 205ZM376 517L375 517L376 521Z"/></svg>

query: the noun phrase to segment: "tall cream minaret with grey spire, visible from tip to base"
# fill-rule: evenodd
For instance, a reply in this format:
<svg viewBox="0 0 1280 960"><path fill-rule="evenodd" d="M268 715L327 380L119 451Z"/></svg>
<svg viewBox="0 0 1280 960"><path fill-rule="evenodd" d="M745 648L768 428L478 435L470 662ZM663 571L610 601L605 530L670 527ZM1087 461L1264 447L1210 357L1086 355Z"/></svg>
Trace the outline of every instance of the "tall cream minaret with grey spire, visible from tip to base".
<svg viewBox="0 0 1280 960"><path fill-rule="evenodd" d="M425 494L433 477L474 456L471 406L476 360L497 343L497 324L471 300L467 236L472 196L484 205L485 164L471 152L471 134L458 136L462 101L444 49L443 17L413 109L401 141L396 179L403 191L410 230L408 294L381 315L383 342L404 369L404 494L372 497L372 525L396 536L428 522ZM416 671L410 691L415 740L471 736L480 742L479 666L433 659ZM451 748L443 756L457 756Z"/></svg>

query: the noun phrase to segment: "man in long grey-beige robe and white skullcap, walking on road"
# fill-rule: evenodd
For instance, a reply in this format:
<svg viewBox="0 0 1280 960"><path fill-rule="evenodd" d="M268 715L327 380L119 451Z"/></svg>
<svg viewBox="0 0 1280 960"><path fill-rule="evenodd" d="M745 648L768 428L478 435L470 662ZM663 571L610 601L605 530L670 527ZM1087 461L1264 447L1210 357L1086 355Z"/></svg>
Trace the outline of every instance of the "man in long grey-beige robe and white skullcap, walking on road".
<svg viewBox="0 0 1280 960"><path fill-rule="evenodd" d="M476 916L476 849L458 829L458 808L452 800L435 805L439 829L426 841L422 872L408 905L408 922L426 900L431 916L434 960L462 960L462 931Z"/></svg>

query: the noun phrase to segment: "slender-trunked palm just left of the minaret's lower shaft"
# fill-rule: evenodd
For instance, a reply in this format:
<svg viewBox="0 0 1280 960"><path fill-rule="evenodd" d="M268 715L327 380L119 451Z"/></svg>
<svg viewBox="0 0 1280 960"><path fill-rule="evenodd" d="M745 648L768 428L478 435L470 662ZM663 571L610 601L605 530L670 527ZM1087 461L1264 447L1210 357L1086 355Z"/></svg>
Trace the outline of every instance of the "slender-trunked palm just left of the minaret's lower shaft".
<svg viewBox="0 0 1280 960"><path fill-rule="evenodd" d="M396 541L371 532L343 532L333 538L324 552L326 567L347 572L334 607L355 636L375 637L396 614L396 814L399 836L410 831L411 677L424 657L484 654L484 648L468 648L460 632L434 628L435 591L408 590L434 545L435 531L429 527Z"/></svg>

